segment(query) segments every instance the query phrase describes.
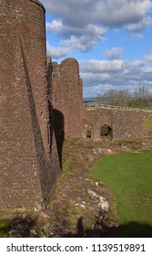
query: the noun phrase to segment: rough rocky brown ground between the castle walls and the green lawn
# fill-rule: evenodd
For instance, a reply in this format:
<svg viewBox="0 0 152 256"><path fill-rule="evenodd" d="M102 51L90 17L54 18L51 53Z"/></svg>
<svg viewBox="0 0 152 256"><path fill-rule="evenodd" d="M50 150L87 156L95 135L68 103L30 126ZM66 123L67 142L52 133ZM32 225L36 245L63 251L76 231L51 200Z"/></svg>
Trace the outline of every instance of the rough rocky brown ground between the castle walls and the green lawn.
<svg viewBox="0 0 152 256"><path fill-rule="evenodd" d="M63 170L42 212L2 212L1 237L117 237L115 200L90 170L106 155L152 148L152 141L65 141Z"/></svg>

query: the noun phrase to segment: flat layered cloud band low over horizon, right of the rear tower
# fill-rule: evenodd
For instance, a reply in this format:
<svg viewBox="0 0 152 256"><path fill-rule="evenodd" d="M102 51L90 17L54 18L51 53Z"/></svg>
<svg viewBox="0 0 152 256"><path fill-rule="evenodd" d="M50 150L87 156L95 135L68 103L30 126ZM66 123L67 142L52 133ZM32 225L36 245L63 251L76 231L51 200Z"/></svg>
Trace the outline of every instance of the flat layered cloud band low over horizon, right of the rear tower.
<svg viewBox="0 0 152 256"><path fill-rule="evenodd" d="M134 91L143 85L152 87L152 68L142 60L81 60L80 70L86 96L91 87L92 96L109 88Z"/></svg>

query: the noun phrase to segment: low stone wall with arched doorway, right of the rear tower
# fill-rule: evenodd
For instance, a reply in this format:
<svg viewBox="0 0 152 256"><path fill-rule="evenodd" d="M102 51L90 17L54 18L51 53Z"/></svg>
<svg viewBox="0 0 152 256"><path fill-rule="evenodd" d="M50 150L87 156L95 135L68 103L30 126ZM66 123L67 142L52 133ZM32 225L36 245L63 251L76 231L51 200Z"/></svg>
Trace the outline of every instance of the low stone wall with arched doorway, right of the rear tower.
<svg viewBox="0 0 152 256"><path fill-rule="evenodd" d="M82 137L91 131L91 138L101 139L101 129L106 124L113 139L136 139L152 136L152 113L142 111L122 111L84 109Z"/></svg>

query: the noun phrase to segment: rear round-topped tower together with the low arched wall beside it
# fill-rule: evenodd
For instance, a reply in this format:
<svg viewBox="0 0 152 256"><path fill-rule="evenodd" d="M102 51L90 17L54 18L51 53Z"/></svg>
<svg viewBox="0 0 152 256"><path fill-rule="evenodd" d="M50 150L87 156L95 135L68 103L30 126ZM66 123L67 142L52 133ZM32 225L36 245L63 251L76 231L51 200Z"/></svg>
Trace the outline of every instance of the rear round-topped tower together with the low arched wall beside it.
<svg viewBox="0 0 152 256"><path fill-rule="evenodd" d="M76 59L49 63L51 98L56 123L56 139L103 137L106 125L111 139L137 139L152 135L152 113L136 110L97 109L83 106L82 81Z"/></svg>

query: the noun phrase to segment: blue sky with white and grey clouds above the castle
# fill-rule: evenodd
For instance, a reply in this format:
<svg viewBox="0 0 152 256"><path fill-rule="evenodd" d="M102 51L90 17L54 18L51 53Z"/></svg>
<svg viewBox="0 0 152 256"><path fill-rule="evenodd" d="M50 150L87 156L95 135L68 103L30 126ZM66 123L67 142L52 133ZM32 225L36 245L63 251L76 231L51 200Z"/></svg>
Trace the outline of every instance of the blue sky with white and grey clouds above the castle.
<svg viewBox="0 0 152 256"><path fill-rule="evenodd" d="M84 97L109 89L152 93L152 1L41 0L47 55L79 62Z"/></svg>

